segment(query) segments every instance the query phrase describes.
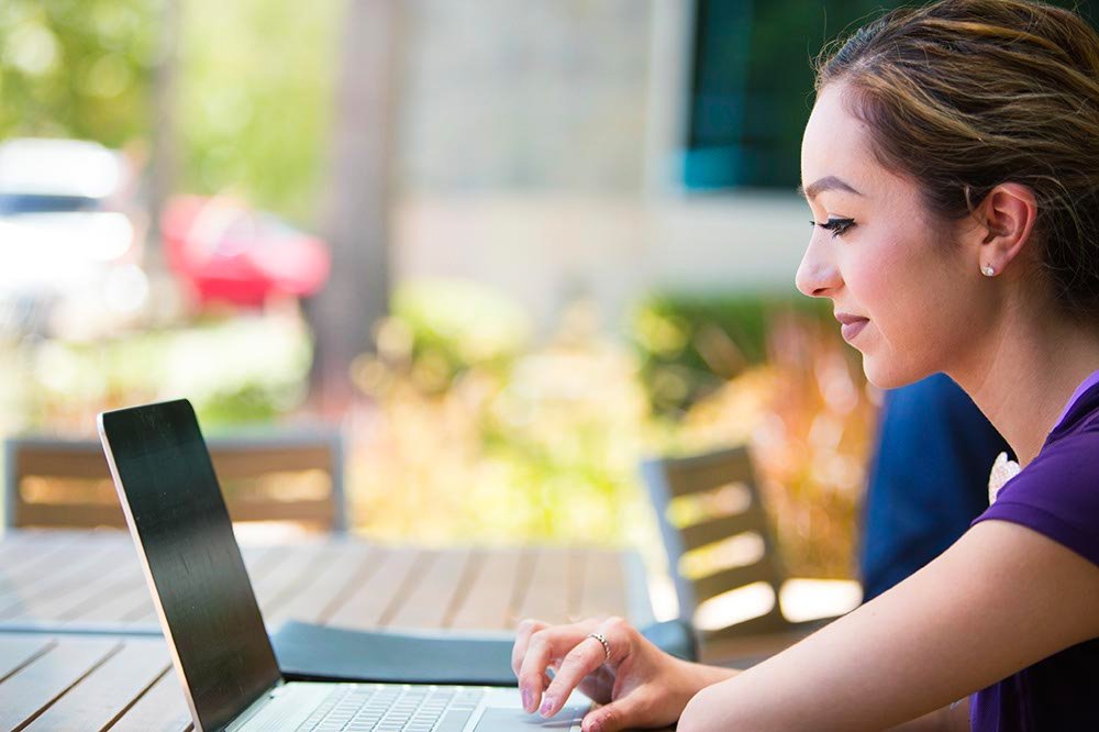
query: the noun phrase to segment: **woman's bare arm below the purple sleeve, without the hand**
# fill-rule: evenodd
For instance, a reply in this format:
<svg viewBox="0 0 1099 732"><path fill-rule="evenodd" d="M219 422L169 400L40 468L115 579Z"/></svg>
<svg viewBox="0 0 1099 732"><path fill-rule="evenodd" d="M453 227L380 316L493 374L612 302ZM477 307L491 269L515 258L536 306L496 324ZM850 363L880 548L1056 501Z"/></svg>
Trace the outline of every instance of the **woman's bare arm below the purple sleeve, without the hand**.
<svg viewBox="0 0 1099 732"><path fill-rule="evenodd" d="M680 732L880 730L1099 636L1099 567L985 521L888 592L699 692Z"/></svg>

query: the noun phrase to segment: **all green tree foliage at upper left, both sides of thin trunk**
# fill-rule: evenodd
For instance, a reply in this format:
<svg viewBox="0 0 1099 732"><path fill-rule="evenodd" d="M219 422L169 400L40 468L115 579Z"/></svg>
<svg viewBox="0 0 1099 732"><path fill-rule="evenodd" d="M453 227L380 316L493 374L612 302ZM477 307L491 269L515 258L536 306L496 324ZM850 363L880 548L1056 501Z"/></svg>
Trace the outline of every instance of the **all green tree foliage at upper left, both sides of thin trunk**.
<svg viewBox="0 0 1099 732"><path fill-rule="evenodd" d="M310 223L332 119L337 0L3 0L0 137L146 142L171 4L179 188L227 190Z"/></svg>

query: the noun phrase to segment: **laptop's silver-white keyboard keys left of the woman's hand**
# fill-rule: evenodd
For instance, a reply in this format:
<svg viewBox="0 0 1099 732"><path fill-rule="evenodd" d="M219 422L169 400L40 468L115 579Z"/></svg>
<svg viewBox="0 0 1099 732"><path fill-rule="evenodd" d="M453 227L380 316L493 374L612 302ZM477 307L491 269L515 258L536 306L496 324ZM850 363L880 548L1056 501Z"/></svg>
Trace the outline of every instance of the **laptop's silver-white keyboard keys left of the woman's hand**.
<svg viewBox="0 0 1099 732"><path fill-rule="evenodd" d="M337 686L299 732L462 732L487 689L463 686Z"/></svg>

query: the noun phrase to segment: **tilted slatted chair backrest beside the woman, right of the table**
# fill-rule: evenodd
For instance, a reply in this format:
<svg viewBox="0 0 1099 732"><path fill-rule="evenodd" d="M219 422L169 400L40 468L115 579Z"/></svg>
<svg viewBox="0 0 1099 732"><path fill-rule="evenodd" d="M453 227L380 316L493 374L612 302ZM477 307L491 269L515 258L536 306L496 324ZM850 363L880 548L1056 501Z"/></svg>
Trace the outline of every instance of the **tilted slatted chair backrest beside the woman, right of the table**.
<svg viewBox="0 0 1099 732"><path fill-rule="evenodd" d="M763 581L775 594L766 614L704 634L786 630L778 602L786 573L747 450L650 459L641 469L659 519L680 617L692 620L706 600Z"/></svg>

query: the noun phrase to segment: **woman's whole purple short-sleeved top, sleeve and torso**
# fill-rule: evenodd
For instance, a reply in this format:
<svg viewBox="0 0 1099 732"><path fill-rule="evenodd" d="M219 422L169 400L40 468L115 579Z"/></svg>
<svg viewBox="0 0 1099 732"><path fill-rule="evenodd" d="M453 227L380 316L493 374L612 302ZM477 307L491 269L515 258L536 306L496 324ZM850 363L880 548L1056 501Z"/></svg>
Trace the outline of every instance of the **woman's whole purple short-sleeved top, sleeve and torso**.
<svg viewBox="0 0 1099 732"><path fill-rule="evenodd" d="M1068 400L1037 457L974 521L1032 529L1099 565L1099 371ZM976 732L1099 730L1099 639L973 695Z"/></svg>

